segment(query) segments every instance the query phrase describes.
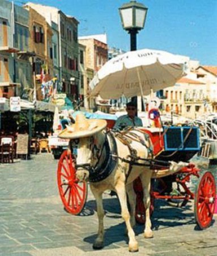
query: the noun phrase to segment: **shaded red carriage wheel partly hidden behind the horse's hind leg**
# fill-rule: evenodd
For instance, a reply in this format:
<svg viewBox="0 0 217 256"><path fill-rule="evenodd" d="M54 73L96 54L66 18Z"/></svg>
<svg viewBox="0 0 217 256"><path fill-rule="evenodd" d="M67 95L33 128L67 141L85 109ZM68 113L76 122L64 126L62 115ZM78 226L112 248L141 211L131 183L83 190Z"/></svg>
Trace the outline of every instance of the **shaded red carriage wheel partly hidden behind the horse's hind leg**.
<svg viewBox="0 0 217 256"><path fill-rule="evenodd" d="M133 183L134 191L137 195L137 203L135 207L135 220L139 224L144 224L146 222L146 209L143 203L143 189L141 179L138 177ZM150 205L150 216L154 212L154 196L151 195L151 205Z"/></svg>

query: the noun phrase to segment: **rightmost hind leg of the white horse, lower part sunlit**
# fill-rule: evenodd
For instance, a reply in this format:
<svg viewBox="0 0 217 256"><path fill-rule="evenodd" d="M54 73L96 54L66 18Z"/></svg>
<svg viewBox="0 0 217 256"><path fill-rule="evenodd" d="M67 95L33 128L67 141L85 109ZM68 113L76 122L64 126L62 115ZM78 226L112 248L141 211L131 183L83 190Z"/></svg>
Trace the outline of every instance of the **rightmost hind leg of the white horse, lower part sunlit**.
<svg viewBox="0 0 217 256"><path fill-rule="evenodd" d="M151 171L143 172L140 176L143 187L143 203L144 208L146 209L146 223L144 229L144 238L152 238L153 232L151 230L151 218L150 218L150 205L151 205L151 197L150 197L150 189L151 189Z"/></svg>

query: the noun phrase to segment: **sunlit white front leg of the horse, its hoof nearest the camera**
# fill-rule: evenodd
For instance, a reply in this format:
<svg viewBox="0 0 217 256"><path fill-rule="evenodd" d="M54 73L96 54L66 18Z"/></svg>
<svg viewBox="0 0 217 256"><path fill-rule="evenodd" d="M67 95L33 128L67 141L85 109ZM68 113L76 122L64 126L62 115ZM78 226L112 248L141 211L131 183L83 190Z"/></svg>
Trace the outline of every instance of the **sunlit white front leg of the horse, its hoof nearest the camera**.
<svg viewBox="0 0 217 256"><path fill-rule="evenodd" d="M135 240L135 233L130 225L130 214L127 208L127 200L126 200L126 189L124 181L119 181L116 184L116 192L118 195L118 199L120 200L121 204L121 216L124 218L126 223L126 228L129 237L129 251L134 252L138 251L138 242Z"/></svg>

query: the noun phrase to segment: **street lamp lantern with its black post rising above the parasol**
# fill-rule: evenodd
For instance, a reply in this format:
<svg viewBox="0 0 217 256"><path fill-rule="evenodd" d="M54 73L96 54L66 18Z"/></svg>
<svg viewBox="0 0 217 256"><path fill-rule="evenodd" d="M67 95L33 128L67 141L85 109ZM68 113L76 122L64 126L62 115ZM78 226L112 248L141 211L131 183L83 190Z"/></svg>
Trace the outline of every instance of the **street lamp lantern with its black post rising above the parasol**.
<svg viewBox="0 0 217 256"><path fill-rule="evenodd" d="M137 1L124 3L119 8L122 27L130 34L130 51L137 50L137 33L144 28L148 8ZM137 97L132 101L137 102Z"/></svg>

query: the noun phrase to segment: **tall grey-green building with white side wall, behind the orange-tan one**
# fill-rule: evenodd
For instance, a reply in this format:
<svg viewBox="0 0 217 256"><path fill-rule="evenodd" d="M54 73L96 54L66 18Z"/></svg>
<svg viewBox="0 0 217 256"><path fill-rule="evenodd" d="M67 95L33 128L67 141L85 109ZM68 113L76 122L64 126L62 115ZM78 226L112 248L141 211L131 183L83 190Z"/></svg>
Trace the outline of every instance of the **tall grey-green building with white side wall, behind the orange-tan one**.
<svg viewBox="0 0 217 256"><path fill-rule="evenodd" d="M55 31L52 41L53 57L55 59L56 72L59 71L58 80L62 85L61 89L68 94L71 100L78 99L78 20L73 16L64 14L56 7L31 2L25 6L30 6L37 13L44 16L46 22L53 28L53 32Z"/></svg>

